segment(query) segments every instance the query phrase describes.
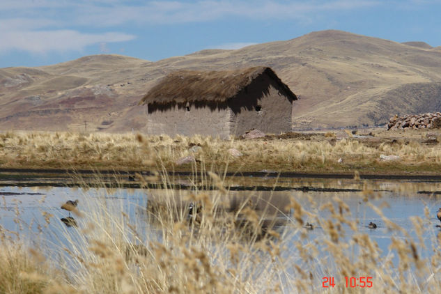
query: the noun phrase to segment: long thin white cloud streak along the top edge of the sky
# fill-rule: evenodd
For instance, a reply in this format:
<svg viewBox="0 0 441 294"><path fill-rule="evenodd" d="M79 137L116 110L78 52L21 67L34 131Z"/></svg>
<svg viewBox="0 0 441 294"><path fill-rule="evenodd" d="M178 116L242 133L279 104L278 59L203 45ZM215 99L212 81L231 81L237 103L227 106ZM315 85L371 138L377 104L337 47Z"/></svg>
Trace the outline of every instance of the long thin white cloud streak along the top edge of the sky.
<svg viewBox="0 0 441 294"><path fill-rule="evenodd" d="M412 0L409 0L412 1ZM415 1L415 0L413 0ZM421 0L420 0L421 1ZM176 24L206 22L223 17L253 20L293 19L328 11L355 10L378 6L378 0L277 1L102 1L102 0L2 0L0 13L29 18L50 18L61 26L118 26L127 23Z"/></svg>

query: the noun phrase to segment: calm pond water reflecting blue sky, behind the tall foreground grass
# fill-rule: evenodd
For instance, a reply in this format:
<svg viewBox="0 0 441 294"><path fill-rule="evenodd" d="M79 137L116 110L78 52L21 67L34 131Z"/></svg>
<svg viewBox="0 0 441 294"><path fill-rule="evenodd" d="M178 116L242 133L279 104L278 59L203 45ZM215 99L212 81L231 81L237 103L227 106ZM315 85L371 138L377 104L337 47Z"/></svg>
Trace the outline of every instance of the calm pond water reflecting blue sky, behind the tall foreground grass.
<svg viewBox="0 0 441 294"><path fill-rule="evenodd" d="M429 182L405 182L402 181L359 181L330 180L297 181L291 179L289 185L307 185L309 187L343 187L345 189L357 189L357 191L346 192L318 192L311 189L296 189L292 191L231 191L222 198L222 207L226 212L238 214L237 219L245 219L240 215L246 203L249 208L258 214L265 212L268 221L263 222L262 228L277 224L290 228L290 224L297 224L295 211L290 208L290 198L293 197L300 204L304 215L302 215L302 226L307 232L306 242L323 238L326 233L323 224L335 215L342 215L345 222L341 224L341 230L346 233L346 240L350 240L354 233L367 234L374 240L381 249L382 254L390 254L391 237L407 240L419 240L422 242L418 250L421 256L430 257L433 254L432 243L438 242L440 238L440 224L436 212L440 206L437 194L421 192L436 192L440 189L440 183ZM300 186L301 187L301 186ZM88 199L99 198L103 206L109 210L117 211L115 215L126 218L125 222L136 224L137 230L144 232L146 239L148 233L154 233L155 226L146 220L146 209L150 209L153 215L157 214L155 209L167 208L164 203L167 194L160 189L75 189L69 187L1 187L0 197L0 224L3 229L20 232L23 235L38 233L40 238L49 240L54 245L63 247L65 242L72 243L59 234L60 230L78 227L87 227L87 217L74 219L72 216L65 217L61 206L68 199L79 199L81 212L84 215L93 214L97 208L88 206ZM187 217L189 215L190 203L197 203L194 191L180 191L173 194L176 198L173 211L176 217ZM246 199L246 201L243 201ZM78 202L77 202L78 203ZM147 205L149 203L149 205ZM343 204L342 204L343 203ZM162 207L163 205L163 207ZM347 210L345 209L347 207ZM239 209L240 208L240 209ZM340 211L339 211L340 210ZM70 211L70 210L68 210ZM197 214L196 214L197 215ZM196 217L196 215L192 215ZM52 222L50 219L57 219ZM274 222L275 220L275 222ZM415 229L416 224L421 222L424 227L423 233ZM372 225L376 224L373 229ZM399 230L394 230L394 226ZM237 224L240 227L240 224ZM246 226L246 224L242 224ZM356 231L353 231L355 226ZM293 242L297 236L293 235Z"/></svg>

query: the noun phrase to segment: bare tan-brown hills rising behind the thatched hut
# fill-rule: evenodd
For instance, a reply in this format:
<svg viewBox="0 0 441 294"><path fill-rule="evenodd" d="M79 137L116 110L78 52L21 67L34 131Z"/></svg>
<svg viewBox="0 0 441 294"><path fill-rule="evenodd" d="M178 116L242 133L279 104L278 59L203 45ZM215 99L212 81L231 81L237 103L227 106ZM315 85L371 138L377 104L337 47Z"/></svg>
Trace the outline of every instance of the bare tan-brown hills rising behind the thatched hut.
<svg viewBox="0 0 441 294"><path fill-rule="evenodd" d="M38 68L0 68L0 130L146 130L138 102L174 70L268 66L288 84L295 130L386 123L441 111L441 49L343 31L151 62L85 56Z"/></svg>

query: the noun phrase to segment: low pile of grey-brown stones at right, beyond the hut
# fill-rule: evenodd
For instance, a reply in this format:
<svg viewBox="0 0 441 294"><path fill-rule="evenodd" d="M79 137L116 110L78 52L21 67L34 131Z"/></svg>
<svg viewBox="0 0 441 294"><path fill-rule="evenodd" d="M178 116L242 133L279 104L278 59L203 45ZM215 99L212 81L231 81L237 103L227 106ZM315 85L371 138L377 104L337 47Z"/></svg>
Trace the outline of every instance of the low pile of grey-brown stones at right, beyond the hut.
<svg viewBox="0 0 441 294"><path fill-rule="evenodd" d="M387 130L402 130L406 127L413 129L441 128L441 112L394 116L390 118L387 124Z"/></svg>

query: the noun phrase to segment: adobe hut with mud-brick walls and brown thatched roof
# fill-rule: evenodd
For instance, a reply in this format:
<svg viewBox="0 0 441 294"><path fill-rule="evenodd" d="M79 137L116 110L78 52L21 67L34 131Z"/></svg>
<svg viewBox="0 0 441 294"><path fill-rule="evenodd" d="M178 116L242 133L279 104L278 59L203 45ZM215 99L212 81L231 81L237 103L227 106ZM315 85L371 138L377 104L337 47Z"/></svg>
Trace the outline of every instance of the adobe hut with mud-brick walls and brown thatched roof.
<svg viewBox="0 0 441 294"><path fill-rule="evenodd" d="M291 131L297 97L271 68L172 72L153 86L147 105L148 134L228 138L256 128Z"/></svg>

